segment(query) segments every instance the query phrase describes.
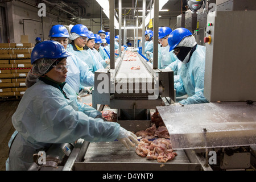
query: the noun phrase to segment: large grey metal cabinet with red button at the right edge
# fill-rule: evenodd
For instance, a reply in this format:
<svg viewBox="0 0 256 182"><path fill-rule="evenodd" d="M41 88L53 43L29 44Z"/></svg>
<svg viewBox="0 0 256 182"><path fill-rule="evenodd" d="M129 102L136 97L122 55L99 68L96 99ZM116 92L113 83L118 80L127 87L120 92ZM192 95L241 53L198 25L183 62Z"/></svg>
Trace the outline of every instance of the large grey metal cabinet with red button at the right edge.
<svg viewBox="0 0 256 182"><path fill-rule="evenodd" d="M208 14L204 96L210 102L256 101L256 11Z"/></svg>

